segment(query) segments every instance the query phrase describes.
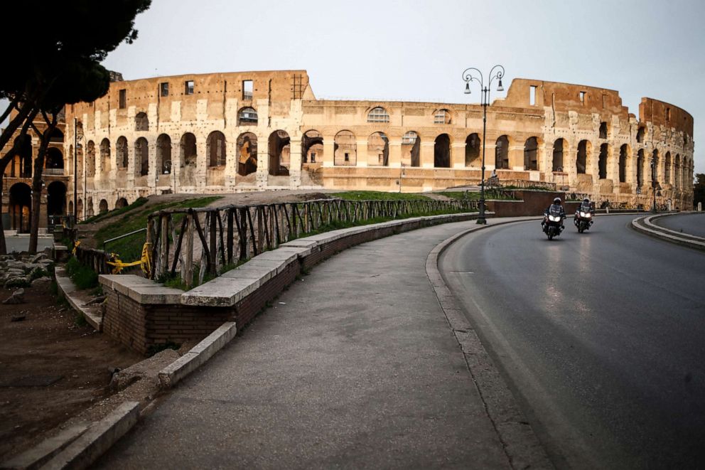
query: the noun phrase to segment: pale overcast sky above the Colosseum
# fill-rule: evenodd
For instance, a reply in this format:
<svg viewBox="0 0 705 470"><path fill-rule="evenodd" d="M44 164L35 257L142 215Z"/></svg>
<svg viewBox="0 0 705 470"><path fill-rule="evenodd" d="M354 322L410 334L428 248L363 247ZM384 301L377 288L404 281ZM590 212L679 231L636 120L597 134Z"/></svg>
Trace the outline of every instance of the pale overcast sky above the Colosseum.
<svg viewBox="0 0 705 470"><path fill-rule="evenodd" d="M605 87L637 116L653 97L693 115L705 172L703 0L153 0L136 27L104 63L126 80L305 69L319 98L464 103L463 70L501 63L505 88Z"/></svg>

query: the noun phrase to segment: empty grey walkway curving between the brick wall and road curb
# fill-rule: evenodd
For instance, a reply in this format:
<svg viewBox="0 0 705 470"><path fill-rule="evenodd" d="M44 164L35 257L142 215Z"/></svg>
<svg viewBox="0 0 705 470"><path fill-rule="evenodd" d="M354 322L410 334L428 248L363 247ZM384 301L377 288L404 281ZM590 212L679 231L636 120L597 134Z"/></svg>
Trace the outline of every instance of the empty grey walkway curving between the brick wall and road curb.
<svg viewBox="0 0 705 470"><path fill-rule="evenodd" d="M284 292L99 468L510 468L426 276L475 221L346 250Z"/></svg>

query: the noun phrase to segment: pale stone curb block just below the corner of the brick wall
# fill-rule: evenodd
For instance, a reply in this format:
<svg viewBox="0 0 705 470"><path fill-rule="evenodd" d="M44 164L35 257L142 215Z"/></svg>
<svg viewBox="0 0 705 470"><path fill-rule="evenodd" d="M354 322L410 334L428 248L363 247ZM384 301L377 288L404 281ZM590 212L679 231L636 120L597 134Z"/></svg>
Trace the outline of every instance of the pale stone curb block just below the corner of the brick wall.
<svg viewBox="0 0 705 470"><path fill-rule="evenodd" d="M237 326L234 321L226 321L217 330L213 331L203 341L181 358L159 371L159 385L163 389L172 388L183 378L203 365L208 359L230 343L237 335Z"/></svg>

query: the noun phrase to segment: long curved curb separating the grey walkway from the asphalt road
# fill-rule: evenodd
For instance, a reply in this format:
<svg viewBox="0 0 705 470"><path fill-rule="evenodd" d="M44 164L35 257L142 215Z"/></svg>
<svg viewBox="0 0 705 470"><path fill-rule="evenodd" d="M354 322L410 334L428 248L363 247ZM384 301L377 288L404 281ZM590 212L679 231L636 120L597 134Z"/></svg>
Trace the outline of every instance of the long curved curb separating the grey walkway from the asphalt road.
<svg viewBox="0 0 705 470"><path fill-rule="evenodd" d="M522 414L514 395L502 379L460 304L448 289L441 272L438 271L438 257L459 238L476 230L526 220L537 220L537 218L534 216L490 225L478 225L443 240L426 258L426 273L434 287L443 314L446 315L448 325L463 351L465 363L485 404L485 411L495 427L497 437L502 442L510 466L512 469L553 469L554 466L534 434L531 424Z"/></svg>

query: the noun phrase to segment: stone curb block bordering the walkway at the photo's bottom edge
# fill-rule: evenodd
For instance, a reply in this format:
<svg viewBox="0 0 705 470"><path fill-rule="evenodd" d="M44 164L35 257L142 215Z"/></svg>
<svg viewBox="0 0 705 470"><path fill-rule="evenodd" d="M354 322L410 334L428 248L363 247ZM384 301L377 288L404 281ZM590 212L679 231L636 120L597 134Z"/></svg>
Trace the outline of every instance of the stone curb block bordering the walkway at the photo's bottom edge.
<svg viewBox="0 0 705 470"><path fill-rule="evenodd" d="M137 423L138 417L139 402L124 402L107 417L92 424L86 432L41 468L85 469L128 432Z"/></svg>

